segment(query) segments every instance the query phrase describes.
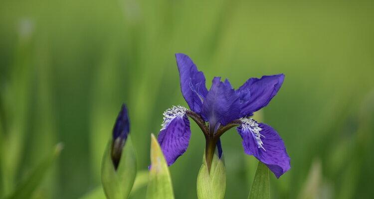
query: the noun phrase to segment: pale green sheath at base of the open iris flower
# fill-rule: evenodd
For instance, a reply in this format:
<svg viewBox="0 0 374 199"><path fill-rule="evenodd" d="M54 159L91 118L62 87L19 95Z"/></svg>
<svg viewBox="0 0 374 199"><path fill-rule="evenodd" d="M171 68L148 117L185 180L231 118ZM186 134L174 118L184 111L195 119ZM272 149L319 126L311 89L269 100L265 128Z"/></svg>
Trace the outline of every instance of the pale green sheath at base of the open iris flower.
<svg viewBox="0 0 374 199"><path fill-rule="evenodd" d="M205 161L205 152L202 165L197 175L197 198L198 199L223 199L226 190L226 167L223 156L221 159L215 151L211 163L210 173Z"/></svg>

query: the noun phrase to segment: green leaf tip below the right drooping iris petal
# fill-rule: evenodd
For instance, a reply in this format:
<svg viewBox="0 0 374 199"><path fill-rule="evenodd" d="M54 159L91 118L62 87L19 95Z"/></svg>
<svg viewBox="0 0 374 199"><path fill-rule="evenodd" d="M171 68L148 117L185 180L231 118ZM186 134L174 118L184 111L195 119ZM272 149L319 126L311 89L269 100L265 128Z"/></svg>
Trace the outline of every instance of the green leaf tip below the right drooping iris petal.
<svg viewBox="0 0 374 199"><path fill-rule="evenodd" d="M248 199L269 199L269 169L262 162L258 162Z"/></svg>

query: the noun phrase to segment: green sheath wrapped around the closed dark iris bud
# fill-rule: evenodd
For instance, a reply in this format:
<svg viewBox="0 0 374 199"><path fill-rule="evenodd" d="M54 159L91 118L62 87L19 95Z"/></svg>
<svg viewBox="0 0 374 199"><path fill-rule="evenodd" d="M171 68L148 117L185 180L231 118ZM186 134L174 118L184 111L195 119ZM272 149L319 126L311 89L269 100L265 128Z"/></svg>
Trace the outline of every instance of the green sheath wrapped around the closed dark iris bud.
<svg viewBox="0 0 374 199"><path fill-rule="evenodd" d="M134 185L137 172L136 155L130 135L122 149L121 160L115 170L111 159L112 141L107 145L104 153L101 182L108 199L127 199Z"/></svg>

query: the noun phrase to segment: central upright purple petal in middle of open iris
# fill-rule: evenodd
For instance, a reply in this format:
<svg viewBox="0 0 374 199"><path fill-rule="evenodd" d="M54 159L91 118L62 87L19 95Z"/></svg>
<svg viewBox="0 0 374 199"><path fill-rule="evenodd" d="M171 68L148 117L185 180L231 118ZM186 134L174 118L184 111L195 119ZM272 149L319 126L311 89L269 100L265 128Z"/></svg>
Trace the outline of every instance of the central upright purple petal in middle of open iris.
<svg viewBox="0 0 374 199"><path fill-rule="evenodd" d="M209 125L217 123L226 125L240 118L240 100L230 83L224 83L215 77L206 98L202 104L201 116Z"/></svg>

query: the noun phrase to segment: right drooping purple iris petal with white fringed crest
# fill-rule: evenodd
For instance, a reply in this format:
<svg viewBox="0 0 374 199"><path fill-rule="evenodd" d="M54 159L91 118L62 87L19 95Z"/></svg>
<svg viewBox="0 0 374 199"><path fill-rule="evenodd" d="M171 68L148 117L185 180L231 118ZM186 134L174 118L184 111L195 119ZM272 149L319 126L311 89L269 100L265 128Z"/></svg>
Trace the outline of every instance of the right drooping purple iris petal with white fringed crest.
<svg viewBox="0 0 374 199"><path fill-rule="evenodd" d="M277 178L291 168L284 142L272 127L250 120L237 127L237 131L245 153L264 163Z"/></svg>

